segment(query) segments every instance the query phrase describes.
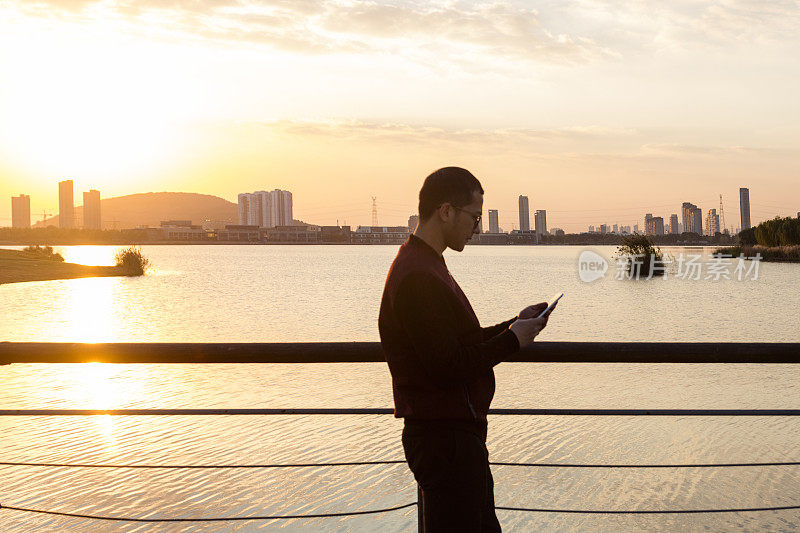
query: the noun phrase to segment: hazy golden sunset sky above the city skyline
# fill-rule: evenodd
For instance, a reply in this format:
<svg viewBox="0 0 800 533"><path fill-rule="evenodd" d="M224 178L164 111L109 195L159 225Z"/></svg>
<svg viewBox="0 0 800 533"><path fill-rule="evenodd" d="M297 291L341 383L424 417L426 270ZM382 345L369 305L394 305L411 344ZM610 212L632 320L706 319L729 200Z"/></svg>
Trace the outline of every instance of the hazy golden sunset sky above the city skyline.
<svg viewBox="0 0 800 533"><path fill-rule="evenodd" d="M800 2L0 0L0 226L61 179L405 224L447 165L505 230L795 216Z"/></svg>

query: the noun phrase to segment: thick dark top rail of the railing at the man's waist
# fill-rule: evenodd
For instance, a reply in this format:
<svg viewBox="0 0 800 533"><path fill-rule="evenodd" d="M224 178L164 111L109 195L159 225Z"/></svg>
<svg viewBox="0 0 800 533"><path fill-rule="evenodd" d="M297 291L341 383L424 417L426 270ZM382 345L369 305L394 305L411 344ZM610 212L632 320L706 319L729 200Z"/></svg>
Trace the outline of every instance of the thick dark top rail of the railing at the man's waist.
<svg viewBox="0 0 800 533"><path fill-rule="evenodd" d="M8 363L371 363L378 342L58 343L0 342ZM800 343L536 342L518 363L799 363Z"/></svg>

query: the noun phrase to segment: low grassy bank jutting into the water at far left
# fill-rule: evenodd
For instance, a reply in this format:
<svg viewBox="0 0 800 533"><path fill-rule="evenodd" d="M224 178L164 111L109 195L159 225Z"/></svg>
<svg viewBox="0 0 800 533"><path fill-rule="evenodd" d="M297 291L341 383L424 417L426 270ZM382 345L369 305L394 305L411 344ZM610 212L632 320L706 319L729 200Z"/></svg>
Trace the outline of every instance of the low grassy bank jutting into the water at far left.
<svg viewBox="0 0 800 533"><path fill-rule="evenodd" d="M0 284L22 281L136 275L119 266L86 266L36 257L21 250L0 249Z"/></svg>

